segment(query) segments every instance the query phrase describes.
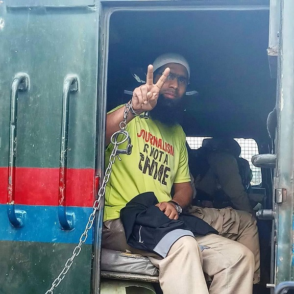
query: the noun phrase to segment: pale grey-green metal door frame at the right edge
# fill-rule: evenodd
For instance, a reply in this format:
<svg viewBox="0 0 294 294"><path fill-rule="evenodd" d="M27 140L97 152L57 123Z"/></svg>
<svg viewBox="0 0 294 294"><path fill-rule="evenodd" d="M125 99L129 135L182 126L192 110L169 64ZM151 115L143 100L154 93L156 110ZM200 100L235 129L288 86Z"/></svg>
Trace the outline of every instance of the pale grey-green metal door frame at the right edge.
<svg viewBox="0 0 294 294"><path fill-rule="evenodd" d="M278 164L274 188L286 189L286 199L275 205L275 285L294 279L293 176L294 176L294 5L282 1L281 53L278 79ZM285 190L284 190L285 191Z"/></svg>

